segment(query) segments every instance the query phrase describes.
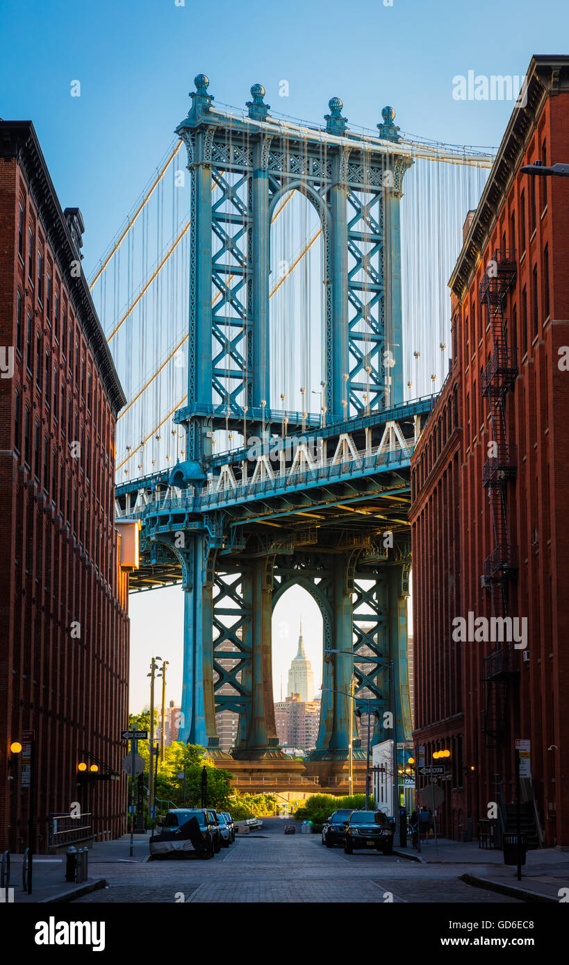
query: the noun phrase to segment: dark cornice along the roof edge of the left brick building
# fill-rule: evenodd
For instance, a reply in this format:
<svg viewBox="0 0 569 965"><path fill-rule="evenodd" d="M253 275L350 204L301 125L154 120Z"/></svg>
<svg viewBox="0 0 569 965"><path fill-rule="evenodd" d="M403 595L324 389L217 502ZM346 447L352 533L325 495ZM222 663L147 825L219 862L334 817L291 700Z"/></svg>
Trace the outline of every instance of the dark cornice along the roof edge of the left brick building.
<svg viewBox="0 0 569 965"><path fill-rule="evenodd" d="M79 252L73 244L31 121L0 121L0 158L5 161L15 159L23 172L48 241L56 256L62 281L70 293L75 313L80 319L81 327L96 360L102 385L116 416L127 399L119 381L87 279L80 267ZM79 263L79 274L73 277L71 266L77 263Z"/></svg>

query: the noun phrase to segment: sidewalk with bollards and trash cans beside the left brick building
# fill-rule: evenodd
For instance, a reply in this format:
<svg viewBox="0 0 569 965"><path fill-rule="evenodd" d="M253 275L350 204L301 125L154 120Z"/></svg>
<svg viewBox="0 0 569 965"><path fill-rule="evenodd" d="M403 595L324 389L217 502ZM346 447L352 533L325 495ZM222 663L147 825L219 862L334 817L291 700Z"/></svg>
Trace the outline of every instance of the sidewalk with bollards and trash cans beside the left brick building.
<svg viewBox="0 0 569 965"><path fill-rule="evenodd" d="M32 895L28 895L22 888L23 855L11 854L10 888L14 889L14 904L49 904L72 901L73 898L104 888L106 881L98 874L98 866L103 863L112 864L114 862L139 864L148 855L149 834L134 835L132 858L130 858L129 853L129 835L124 835L117 841L95 842L89 850L89 877L86 881L77 884L65 880L65 855L35 855Z"/></svg>

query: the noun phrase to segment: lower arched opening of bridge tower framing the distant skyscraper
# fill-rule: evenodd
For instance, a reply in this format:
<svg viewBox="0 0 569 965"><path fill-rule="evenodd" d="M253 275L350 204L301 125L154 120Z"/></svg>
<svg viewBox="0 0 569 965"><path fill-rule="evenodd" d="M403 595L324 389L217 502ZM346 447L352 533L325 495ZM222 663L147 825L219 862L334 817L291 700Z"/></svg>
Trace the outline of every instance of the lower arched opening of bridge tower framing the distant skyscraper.
<svg viewBox="0 0 569 965"><path fill-rule="evenodd" d="M272 611L274 713L279 745L285 751L296 747L308 754L316 747L323 640L324 620L314 596L298 583L289 586Z"/></svg>

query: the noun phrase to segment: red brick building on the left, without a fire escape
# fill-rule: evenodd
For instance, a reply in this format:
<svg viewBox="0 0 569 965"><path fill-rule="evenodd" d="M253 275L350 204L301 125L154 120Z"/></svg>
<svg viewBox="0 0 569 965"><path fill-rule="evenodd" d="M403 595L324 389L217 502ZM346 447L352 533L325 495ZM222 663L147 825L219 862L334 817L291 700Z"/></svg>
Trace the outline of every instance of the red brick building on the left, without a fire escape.
<svg viewBox="0 0 569 965"><path fill-rule="evenodd" d="M27 843L22 756L35 735L36 849L72 802L126 823L128 577L114 526L125 397L30 122L0 123L0 848ZM0 352L1 354L1 352ZM4 364L6 362L6 364ZM79 762L99 776L77 784ZM120 775L120 777L119 777ZM76 810L76 806L75 806Z"/></svg>

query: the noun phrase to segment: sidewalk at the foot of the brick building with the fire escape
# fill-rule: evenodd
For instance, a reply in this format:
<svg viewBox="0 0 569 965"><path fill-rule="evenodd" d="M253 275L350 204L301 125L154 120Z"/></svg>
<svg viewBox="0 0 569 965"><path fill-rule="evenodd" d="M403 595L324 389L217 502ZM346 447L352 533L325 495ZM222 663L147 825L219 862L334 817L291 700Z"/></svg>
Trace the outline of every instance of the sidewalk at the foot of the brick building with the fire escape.
<svg viewBox="0 0 569 965"><path fill-rule="evenodd" d="M393 852L421 864L469 865L472 871L462 874L461 881L525 901L556 903L562 888L569 895L569 852L555 848L527 851L521 881L515 866L504 865L501 851L479 848L477 841L463 843L441 838L436 844L431 838L421 841L420 853L408 841L407 848L394 847Z"/></svg>

